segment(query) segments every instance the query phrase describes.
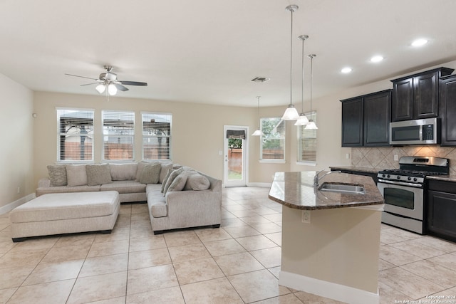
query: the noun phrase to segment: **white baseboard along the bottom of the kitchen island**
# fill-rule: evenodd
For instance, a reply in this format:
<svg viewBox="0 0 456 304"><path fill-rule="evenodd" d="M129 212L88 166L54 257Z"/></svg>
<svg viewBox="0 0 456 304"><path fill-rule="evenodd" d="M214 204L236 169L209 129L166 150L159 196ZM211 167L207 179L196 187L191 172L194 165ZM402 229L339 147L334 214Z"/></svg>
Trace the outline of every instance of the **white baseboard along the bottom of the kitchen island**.
<svg viewBox="0 0 456 304"><path fill-rule="evenodd" d="M281 271L279 274L279 285L302 290L306 293L313 293L321 297L331 298L345 303L366 304L380 303L380 296L377 293L370 293L345 285L321 281L316 278L301 276L296 273Z"/></svg>

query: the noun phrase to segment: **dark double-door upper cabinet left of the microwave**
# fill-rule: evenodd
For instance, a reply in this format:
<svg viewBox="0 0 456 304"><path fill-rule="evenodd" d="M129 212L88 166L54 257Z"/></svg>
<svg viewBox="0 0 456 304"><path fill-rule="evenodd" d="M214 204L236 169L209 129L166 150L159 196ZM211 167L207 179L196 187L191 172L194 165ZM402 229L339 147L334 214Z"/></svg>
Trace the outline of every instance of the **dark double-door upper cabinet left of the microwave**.
<svg viewBox="0 0 456 304"><path fill-rule="evenodd" d="M341 100L342 147L389 146L391 90Z"/></svg>

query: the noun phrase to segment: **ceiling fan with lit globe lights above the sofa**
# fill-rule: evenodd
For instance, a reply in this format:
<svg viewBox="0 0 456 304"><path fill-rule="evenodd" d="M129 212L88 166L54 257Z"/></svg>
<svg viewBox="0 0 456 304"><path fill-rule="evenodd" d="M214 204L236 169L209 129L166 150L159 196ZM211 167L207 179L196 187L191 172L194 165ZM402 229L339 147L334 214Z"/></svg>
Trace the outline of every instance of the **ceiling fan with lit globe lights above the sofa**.
<svg viewBox="0 0 456 304"><path fill-rule="evenodd" d="M100 76L98 76L98 79L86 77L86 76L80 76L80 75L73 75L73 74L65 74L65 75L95 80L96 81L95 83L86 83L84 85L97 85L98 84L95 87L95 90L97 90L98 93L100 93L100 94L102 94L103 92L106 91L106 94L115 95L115 94L117 94L118 90L128 91L128 88L125 87L125 85L147 86L147 83L140 83L138 81L118 80L117 74L115 74L111 71L111 70L113 70L113 67L111 65L105 65L103 68L105 68L106 72L101 73ZM83 86L83 85L81 85L81 86ZM106 90L106 89L108 89L108 90Z"/></svg>

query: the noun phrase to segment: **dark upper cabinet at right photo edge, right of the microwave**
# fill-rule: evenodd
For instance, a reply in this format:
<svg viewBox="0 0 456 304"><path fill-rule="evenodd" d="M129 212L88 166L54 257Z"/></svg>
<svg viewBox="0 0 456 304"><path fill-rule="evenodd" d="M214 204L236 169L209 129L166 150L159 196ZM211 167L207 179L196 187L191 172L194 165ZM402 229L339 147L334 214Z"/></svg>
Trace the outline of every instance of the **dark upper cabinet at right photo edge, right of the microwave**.
<svg viewBox="0 0 456 304"><path fill-rule="evenodd" d="M442 120L442 146L456 146L456 75L440 80L440 118Z"/></svg>

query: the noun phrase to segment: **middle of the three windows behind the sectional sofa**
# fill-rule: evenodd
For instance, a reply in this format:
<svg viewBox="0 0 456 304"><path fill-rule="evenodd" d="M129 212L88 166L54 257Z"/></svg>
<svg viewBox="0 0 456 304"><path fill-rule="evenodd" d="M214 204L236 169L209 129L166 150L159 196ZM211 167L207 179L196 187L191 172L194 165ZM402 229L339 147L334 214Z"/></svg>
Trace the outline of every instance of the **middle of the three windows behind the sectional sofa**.
<svg viewBox="0 0 456 304"><path fill-rule="evenodd" d="M135 112L103 111L103 159L133 160Z"/></svg>

